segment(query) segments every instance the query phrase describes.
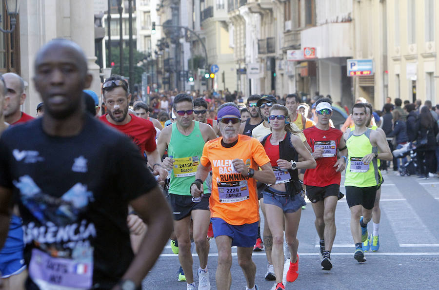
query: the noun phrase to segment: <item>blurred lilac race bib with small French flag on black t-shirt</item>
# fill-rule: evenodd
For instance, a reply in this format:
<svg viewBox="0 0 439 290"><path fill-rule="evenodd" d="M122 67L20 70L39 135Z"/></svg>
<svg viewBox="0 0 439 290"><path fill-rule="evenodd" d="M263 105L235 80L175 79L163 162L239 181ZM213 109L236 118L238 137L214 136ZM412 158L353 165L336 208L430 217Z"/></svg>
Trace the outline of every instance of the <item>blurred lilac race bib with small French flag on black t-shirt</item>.
<svg viewBox="0 0 439 290"><path fill-rule="evenodd" d="M84 249L80 258L68 259L32 249L29 275L40 289L90 289L93 284L93 250Z"/></svg>

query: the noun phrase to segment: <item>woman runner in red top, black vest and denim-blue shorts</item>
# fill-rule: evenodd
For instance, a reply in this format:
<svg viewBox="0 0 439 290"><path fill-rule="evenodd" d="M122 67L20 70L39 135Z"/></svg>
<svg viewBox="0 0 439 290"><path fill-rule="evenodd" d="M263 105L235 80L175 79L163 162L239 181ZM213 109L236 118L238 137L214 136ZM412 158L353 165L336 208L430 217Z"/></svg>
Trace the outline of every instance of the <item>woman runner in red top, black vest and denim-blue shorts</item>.
<svg viewBox="0 0 439 290"><path fill-rule="evenodd" d="M290 266L286 275L287 282L294 282L299 275L299 229L301 207L305 199L301 195L302 186L298 169L315 168L316 161L297 135L292 134L289 126L288 109L275 104L270 109L272 134L262 140L265 152L276 175L275 184L268 184L262 191L265 214L273 234L271 258L276 276L276 290L285 289L283 277L283 230L285 220L285 237L290 251ZM299 154L303 161L298 162Z"/></svg>

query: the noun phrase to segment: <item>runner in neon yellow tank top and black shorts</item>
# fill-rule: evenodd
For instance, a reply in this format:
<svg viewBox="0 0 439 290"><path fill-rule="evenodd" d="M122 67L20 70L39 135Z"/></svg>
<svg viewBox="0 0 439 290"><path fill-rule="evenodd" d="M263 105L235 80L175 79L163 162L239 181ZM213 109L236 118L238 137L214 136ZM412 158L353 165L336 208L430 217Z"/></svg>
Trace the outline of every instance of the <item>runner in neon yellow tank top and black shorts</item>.
<svg viewBox="0 0 439 290"><path fill-rule="evenodd" d="M351 210L351 232L356 247L354 258L364 262L366 259L361 243L368 236L367 223L372 218L379 184L377 159L392 160L393 155L386 139L379 132L366 127L368 117L363 103L353 106L352 119L355 129L344 134L349 152L344 185L346 201Z"/></svg>

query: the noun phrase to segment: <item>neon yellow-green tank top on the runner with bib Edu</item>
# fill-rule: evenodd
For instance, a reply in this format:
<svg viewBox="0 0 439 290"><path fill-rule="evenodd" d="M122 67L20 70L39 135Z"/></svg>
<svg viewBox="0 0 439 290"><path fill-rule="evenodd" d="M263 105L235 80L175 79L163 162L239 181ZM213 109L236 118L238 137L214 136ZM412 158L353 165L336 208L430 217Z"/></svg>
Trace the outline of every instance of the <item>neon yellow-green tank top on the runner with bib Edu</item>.
<svg viewBox="0 0 439 290"><path fill-rule="evenodd" d="M345 174L345 186L370 187L378 184L378 162L372 159L368 165L361 162L361 158L370 153L378 153L378 148L370 143L370 133L372 129L356 136L354 130L351 131L347 140L348 158Z"/></svg>

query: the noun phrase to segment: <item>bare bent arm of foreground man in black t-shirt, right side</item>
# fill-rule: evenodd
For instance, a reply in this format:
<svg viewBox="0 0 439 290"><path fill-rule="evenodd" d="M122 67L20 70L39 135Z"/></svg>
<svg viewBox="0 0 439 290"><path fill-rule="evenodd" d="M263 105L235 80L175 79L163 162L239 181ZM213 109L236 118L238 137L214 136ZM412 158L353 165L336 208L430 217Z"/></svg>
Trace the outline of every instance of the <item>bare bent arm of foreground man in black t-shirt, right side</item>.
<svg viewBox="0 0 439 290"><path fill-rule="evenodd" d="M132 280L137 287L157 261L172 232L172 217L159 187L132 200L130 205L147 226L147 231L122 279Z"/></svg>

